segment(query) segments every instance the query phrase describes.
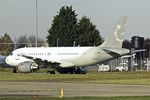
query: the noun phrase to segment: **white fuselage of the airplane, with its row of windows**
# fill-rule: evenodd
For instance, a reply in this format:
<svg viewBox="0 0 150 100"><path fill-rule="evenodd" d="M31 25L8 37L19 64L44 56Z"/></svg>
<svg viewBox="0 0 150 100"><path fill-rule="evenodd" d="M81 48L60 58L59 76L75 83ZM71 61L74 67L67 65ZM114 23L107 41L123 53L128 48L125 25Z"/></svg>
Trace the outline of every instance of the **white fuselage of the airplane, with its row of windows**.
<svg viewBox="0 0 150 100"><path fill-rule="evenodd" d="M48 62L69 62L73 66L88 66L113 58L100 47L32 47L14 50L6 59L11 66L18 66L22 62L31 61L22 55L39 58ZM62 65L62 67L68 67ZM69 66L70 67L70 66Z"/></svg>

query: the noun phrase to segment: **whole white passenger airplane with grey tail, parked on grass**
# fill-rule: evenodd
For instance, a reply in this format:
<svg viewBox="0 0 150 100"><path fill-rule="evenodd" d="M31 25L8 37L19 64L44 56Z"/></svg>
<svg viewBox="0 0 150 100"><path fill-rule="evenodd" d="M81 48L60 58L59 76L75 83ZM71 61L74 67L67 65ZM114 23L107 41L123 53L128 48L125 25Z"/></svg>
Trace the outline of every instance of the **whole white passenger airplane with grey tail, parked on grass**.
<svg viewBox="0 0 150 100"><path fill-rule="evenodd" d="M129 54L122 48L126 21L127 17L121 16L108 38L97 47L26 47L14 50L5 61L24 73L42 66L53 69L48 71L50 74L82 73L86 66Z"/></svg>

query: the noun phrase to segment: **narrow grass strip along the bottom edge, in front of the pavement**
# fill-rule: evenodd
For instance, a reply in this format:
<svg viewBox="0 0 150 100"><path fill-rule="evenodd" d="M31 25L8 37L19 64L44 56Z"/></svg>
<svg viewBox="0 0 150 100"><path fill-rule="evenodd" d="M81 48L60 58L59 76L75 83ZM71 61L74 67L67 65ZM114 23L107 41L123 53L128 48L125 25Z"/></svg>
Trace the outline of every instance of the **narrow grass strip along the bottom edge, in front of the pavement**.
<svg viewBox="0 0 150 100"><path fill-rule="evenodd" d="M34 96L13 96L1 97L0 100L34 100ZM123 96L123 97L65 97L58 99L55 97L38 97L37 100L150 100L150 96Z"/></svg>

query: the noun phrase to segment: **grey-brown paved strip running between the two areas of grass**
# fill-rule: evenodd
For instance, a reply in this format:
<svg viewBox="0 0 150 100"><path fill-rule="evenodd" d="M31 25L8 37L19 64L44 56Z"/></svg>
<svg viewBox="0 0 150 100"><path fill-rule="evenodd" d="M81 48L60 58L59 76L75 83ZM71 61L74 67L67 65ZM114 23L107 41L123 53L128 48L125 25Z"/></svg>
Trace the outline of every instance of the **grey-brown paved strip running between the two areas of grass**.
<svg viewBox="0 0 150 100"><path fill-rule="evenodd" d="M57 82L0 82L0 96L150 96L150 85L86 84Z"/></svg>

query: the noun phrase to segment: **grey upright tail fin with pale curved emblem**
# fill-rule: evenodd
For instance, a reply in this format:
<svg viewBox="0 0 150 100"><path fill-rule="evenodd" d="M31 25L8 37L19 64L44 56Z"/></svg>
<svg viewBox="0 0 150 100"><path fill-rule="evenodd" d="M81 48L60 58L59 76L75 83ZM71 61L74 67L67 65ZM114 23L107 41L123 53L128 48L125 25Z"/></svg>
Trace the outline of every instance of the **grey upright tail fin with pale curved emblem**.
<svg viewBox="0 0 150 100"><path fill-rule="evenodd" d="M121 48L123 43L123 37L125 32L127 17L121 16L114 26L112 32L109 34L109 37L104 41L100 47L117 47Z"/></svg>

